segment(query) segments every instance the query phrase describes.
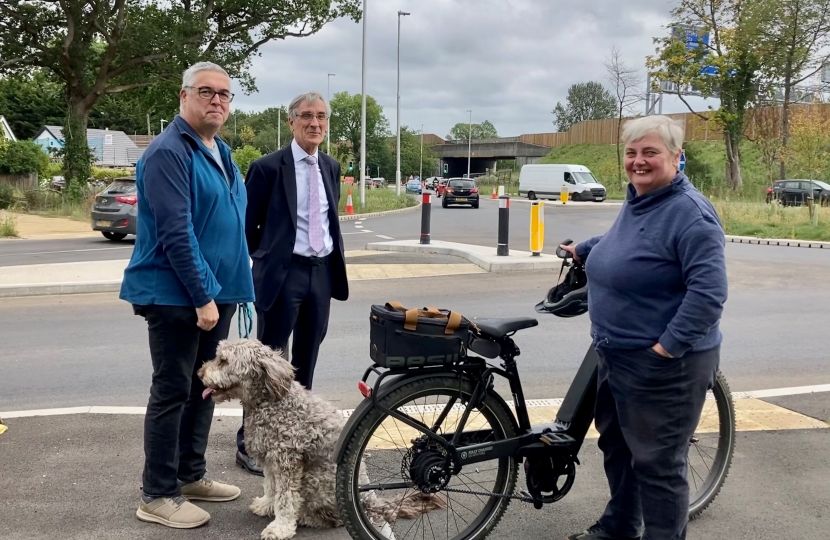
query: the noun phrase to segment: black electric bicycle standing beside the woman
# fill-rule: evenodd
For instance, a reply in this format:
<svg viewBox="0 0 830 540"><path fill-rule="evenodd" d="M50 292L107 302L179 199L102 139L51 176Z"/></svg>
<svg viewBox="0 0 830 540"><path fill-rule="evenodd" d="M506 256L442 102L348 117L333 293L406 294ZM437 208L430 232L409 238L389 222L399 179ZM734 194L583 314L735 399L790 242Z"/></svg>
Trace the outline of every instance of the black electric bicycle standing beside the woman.
<svg viewBox="0 0 830 540"><path fill-rule="evenodd" d="M579 450L594 418L599 360L594 348L586 353L555 420L532 425L516 363L520 351L512 336L538 321L473 322L477 331L470 350L499 358L499 366L468 351L451 365L373 366L364 373L358 386L365 399L349 418L335 452L337 502L352 538L481 539L512 500L538 509L562 499L573 486ZM495 391L496 376L509 383L512 406ZM734 445L734 405L718 372L689 441L690 518L717 496ZM521 461L524 490L516 485ZM387 522L367 515L362 501L369 494L389 501L415 495L423 501L423 494L433 494L440 509Z"/></svg>

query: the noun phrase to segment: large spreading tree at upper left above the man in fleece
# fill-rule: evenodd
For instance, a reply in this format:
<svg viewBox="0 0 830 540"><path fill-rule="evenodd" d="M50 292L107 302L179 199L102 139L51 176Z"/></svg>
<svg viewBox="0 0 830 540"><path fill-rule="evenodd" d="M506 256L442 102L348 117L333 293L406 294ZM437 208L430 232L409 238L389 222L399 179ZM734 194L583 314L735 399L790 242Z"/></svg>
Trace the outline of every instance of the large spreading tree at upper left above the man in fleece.
<svg viewBox="0 0 830 540"><path fill-rule="evenodd" d="M43 68L65 84L64 169L72 192L89 174L86 128L103 96L175 83L203 59L250 91L248 68L262 45L360 15L359 0L3 0L0 74Z"/></svg>

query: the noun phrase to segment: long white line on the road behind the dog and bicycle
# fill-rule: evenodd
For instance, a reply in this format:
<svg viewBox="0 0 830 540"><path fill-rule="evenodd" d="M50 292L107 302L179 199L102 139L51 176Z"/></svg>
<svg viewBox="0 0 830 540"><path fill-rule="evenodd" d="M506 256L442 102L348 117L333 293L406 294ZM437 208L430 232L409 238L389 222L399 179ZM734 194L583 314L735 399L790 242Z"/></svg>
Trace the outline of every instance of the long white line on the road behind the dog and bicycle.
<svg viewBox="0 0 830 540"><path fill-rule="evenodd" d="M733 392L734 399L747 398L769 398L780 396L795 396L801 394L813 394L818 392L830 392L830 384L818 384L814 386L797 386L792 388L770 388L767 390L752 390L749 392ZM562 404L563 398L552 399L528 399L525 400L525 405L528 408L534 407L554 407ZM508 403L512 408L513 404ZM417 407L431 407L430 405L419 405ZM426 410L426 409L424 409ZM146 407L110 407L89 405L83 407L63 407L57 409L33 409L28 411L5 411L0 412L0 418L31 418L34 416L57 416L64 414L131 414L143 415L147 411ZM343 409L338 411L343 416L350 416L354 409ZM213 416L242 416L241 407L216 407L213 410Z"/></svg>

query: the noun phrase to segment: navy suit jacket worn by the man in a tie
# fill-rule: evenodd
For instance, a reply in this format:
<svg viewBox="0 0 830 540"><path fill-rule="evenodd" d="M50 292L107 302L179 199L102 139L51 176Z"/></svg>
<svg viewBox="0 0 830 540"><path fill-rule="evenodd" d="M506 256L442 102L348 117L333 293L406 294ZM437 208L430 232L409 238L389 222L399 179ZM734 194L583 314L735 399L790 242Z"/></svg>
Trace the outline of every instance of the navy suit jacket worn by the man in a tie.
<svg viewBox="0 0 830 540"><path fill-rule="evenodd" d="M318 151L317 155L329 202L329 234L334 242L334 251L328 264L331 296L335 300L346 300L349 297L349 282L346 278L346 256L337 215L340 203L340 163L322 152ZM297 237L297 176L291 146L251 163L245 187L248 191L245 238L254 261L256 305L267 311L285 282Z"/></svg>

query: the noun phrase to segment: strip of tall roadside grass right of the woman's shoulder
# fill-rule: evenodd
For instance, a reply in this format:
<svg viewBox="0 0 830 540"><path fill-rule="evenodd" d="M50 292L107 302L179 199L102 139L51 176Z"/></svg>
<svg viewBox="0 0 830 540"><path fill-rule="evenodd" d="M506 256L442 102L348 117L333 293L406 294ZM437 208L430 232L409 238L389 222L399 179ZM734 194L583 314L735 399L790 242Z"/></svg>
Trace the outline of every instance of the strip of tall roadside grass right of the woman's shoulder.
<svg viewBox="0 0 830 540"><path fill-rule="evenodd" d="M713 201L726 234L781 238L787 240L830 241L830 208L816 208L818 225L810 222L806 206Z"/></svg>

